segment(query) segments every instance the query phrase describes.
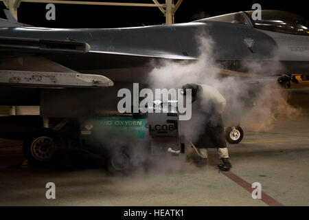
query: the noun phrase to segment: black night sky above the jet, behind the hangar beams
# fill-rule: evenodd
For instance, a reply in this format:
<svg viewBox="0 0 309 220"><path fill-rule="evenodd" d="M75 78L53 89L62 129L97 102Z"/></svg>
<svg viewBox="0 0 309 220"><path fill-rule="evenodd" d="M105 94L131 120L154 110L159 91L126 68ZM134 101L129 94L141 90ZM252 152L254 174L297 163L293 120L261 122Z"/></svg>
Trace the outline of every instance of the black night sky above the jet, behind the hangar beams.
<svg viewBox="0 0 309 220"><path fill-rule="evenodd" d="M114 1L153 3L152 0ZM164 0L159 0L159 2L165 3ZM174 3L176 3L176 0ZM251 10L253 3L260 3L264 10L286 10L308 19L306 1L184 0L181 7L176 12L175 23L194 21L196 19L239 12L242 10ZM18 14L19 22L47 28L122 28L165 23L165 17L158 8L62 4L56 4L56 21L47 21L45 19L45 13L47 12L47 10L45 10L45 5L46 3L21 3ZM5 5L2 2L0 2L0 8L0 17L4 18L2 9L5 8Z"/></svg>

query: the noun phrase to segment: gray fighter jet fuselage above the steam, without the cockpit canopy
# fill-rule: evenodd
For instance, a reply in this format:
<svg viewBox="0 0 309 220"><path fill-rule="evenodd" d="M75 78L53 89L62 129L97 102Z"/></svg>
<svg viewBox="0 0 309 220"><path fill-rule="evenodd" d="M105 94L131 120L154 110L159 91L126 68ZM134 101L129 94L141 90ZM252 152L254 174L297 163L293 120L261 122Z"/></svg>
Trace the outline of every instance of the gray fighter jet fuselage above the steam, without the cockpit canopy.
<svg viewBox="0 0 309 220"><path fill-rule="evenodd" d="M279 61L286 67L286 72L308 72L308 32L287 34L258 29L250 23L247 13L241 13L244 19L247 19L245 23L228 23L210 18L191 23L138 28L0 28L0 40L12 40L0 43L0 53L4 53L4 58L8 57L8 54L16 56L16 53L22 54L23 57L27 54L43 56L78 72L107 72L113 80L114 72L144 67L152 60L198 59L203 53L203 41L213 41L212 51L207 53L211 54L214 60L227 65L241 61ZM28 43L44 40L80 42L87 44L89 48L85 48L83 52L61 53L61 47L57 48L58 45L54 48L41 48L38 44L38 48L32 48L31 43ZM25 43L20 43L21 41Z"/></svg>

